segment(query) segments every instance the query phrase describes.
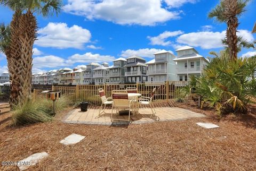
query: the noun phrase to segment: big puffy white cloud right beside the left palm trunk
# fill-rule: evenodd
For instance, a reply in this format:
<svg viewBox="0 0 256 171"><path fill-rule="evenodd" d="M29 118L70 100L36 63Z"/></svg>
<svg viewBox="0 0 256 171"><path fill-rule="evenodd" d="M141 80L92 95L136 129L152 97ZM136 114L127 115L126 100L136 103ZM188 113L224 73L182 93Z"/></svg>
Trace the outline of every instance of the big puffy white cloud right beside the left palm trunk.
<svg viewBox="0 0 256 171"><path fill-rule="evenodd" d="M91 33L78 25L68 27L67 23L48 23L38 30L38 40L35 44L42 47L77 48L82 49L90 42Z"/></svg>

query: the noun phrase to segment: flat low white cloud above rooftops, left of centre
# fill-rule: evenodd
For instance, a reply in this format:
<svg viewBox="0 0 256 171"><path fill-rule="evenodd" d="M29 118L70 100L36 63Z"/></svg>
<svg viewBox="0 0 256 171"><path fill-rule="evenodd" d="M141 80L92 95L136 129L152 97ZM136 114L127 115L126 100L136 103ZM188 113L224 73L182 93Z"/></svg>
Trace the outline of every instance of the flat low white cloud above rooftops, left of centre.
<svg viewBox="0 0 256 171"><path fill-rule="evenodd" d="M83 55L75 54L68 58L68 64L74 63L91 63L91 62L112 62L115 60L114 56L110 55L100 55L100 54L92 54L87 52Z"/></svg>

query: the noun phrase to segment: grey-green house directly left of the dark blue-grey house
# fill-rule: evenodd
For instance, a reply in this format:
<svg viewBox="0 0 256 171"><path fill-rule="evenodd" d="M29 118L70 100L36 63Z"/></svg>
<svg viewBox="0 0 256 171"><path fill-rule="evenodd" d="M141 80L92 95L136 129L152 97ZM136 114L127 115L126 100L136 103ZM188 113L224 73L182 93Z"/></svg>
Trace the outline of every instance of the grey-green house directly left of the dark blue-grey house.
<svg viewBox="0 0 256 171"><path fill-rule="evenodd" d="M118 84L126 82L125 78L125 66L126 59L120 57L113 61L113 66L108 68L109 70L109 83L110 84Z"/></svg>

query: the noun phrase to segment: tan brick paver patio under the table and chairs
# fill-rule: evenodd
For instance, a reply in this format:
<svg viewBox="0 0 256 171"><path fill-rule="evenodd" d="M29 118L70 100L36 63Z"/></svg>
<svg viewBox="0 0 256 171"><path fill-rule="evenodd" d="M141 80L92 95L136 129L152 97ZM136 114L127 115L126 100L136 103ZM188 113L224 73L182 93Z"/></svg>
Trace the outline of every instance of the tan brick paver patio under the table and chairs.
<svg viewBox="0 0 256 171"><path fill-rule="evenodd" d="M156 121L175 121L182 120L192 117L205 117L203 114L195 113L187 109L182 109L178 107L159 107L155 108L156 116L150 118L151 109L150 108L141 108L139 109L139 114L131 116L132 124L142 124L142 123L151 123ZM74 109L67 117L64 119L66 123L73 124L100 124L100 125L122 125L127 124L125 121L115 121L112 123L110 121L111 109L105 110L106 114L99 114L99 109L88 109L87 112L81 112L80 109ZM114 110L115 112L115 110ZM128 116L119 116L113 115L113 118L128 118Z"/></svg>

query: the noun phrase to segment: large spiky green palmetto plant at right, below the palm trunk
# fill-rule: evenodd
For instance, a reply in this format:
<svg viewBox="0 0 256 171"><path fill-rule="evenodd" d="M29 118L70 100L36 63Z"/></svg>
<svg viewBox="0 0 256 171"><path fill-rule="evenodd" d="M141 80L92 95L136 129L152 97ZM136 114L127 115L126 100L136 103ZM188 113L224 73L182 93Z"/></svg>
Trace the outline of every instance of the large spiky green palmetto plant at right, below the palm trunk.
<svg viewBox="0 0 256 171"><path fill-rule="evenodd" d="M196 84L194 81L196 93L202 97L204 104L221 106L221 112L225 109L246 112L247 104L256 97L256 79L252 77L253 71L256 71L255 59L230 61L225 52L215 55L217 57L210 60L204 74L196 78Z"/></svg>

